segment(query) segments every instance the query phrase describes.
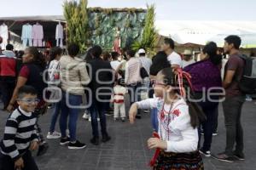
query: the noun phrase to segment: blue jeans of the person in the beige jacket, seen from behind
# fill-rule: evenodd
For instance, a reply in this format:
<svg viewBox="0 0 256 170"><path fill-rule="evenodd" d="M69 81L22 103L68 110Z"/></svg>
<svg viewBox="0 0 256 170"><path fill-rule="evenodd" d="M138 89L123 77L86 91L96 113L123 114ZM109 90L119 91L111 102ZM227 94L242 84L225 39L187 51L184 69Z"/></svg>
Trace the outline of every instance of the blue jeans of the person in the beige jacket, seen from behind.
<svg viewBox="0 0 256 170"><path fill-rule="evenodd" d="M72 106L79 106L82 103L81 95L73 95L68 94L68 98L66 96L66 92L62 93L61 99L61 118L60 118L60 129L61 129L61 137L66 138L67 133L67 116L69 116L68 120L68 129L70 135L70 141L76 141L76 130L77 130L77 122L79 117L79 109L70 108L67 106L67 103Z"/></svg>

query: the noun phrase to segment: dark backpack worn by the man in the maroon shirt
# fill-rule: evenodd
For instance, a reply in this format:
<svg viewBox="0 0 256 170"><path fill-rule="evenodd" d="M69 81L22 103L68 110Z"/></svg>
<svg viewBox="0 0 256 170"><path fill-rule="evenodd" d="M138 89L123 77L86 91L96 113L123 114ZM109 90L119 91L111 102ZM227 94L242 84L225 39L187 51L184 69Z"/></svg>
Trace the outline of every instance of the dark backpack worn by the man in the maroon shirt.
<svg viewBox="0 0 256 170"><path fill-rule="evenodd" d="M243 59L245 65L238 86L243 94L255 94L256 93L256 58L247 57L242 54L239 56Z"/></svg>

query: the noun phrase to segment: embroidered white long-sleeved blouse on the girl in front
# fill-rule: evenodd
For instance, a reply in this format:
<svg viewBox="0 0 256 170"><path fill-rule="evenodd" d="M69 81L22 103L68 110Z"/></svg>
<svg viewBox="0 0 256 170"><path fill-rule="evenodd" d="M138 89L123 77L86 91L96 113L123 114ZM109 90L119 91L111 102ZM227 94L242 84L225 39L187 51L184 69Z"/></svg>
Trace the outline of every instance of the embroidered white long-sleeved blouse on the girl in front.
<svg viewBox="0 0 256 170"><path fill-rule="evenodd" d="M184 99L177 100L173 105L164 105L164 100L160 98L145 99L137 102L137 105L139 109L157 108L158 133L160 139L167 142L166 152L186 153L197 150L198 130L190 124L189 106Z"/></svg>

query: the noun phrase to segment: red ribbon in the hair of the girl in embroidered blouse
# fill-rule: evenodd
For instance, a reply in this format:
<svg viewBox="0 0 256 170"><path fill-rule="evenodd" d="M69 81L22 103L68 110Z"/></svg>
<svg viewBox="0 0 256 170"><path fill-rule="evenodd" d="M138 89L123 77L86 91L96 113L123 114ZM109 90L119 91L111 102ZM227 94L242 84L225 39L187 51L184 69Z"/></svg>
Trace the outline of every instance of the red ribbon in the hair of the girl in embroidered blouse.
<svg viewBox="0 0 256 170"><path fill-rule="evenodd" d="M191 76L188 72L183 71L181 68L176 68L174 70L174 72L176 73L176 77L177 77L177 81L178 81L178 88L179 88L179 92L181 94L181 96L185 96L186 92L185 89L183 88L183 77L187 79L187 81L189 82L189 87L194 90L192 83L191 83Z"/></svg>

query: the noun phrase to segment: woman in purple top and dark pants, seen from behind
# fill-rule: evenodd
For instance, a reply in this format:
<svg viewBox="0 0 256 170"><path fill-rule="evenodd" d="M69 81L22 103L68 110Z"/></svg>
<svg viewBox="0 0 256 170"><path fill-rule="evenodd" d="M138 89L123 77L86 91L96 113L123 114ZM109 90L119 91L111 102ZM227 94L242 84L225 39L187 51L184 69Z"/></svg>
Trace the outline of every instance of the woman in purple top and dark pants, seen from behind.
<svg viewBox="0 0 256 170"><path fill-rule="evenodd" d="M204 156L211 156L212 133L218 122L219 96L216 93L221 92L222 88L220 74L222 56L218 55L217 51L217 44L208 42L202 49L201 61L184 68L184 71L189 72L192 77L191 81L195 90L195 97L207 116L207 120L201 122L204 144L200 152Z"/></svg>

